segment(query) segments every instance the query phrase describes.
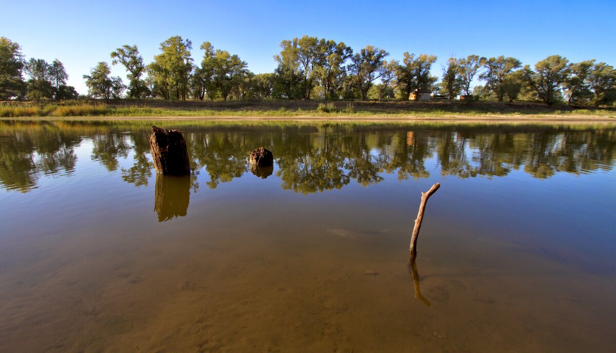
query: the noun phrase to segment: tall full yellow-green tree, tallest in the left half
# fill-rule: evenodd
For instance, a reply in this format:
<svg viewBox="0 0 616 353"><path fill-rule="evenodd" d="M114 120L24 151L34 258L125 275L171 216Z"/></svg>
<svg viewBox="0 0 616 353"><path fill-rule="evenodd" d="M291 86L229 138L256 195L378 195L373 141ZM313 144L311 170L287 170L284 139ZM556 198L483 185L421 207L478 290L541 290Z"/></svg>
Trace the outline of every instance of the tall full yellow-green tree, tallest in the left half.
<svg viewBox="0 0 616 353"><path fill-rule="evenodd" d="M161 54L154 56L148 65L152 92L164 99L186 100L188 95L192 61L192 42L180 36L172 36L160 44Z"/></svg>

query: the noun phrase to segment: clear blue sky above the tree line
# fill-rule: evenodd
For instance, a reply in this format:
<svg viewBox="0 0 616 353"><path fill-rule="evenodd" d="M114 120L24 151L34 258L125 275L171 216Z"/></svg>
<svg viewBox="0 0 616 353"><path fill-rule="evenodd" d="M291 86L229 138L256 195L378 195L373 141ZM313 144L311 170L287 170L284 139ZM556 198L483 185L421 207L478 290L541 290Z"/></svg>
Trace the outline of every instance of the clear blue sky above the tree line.
<svg viewBox="0 0 616 353"><path fill-rule="evenodd" d="M304 34L371 44L402 59L405 51L437 55L441 76L450 55L517 57L534 65L559 54L572 62L616 66L616 1L4 1L0 36L26 59L67 68L69 84L86 93L82 75L123 44L137 44L146 63L164 39L180 35L199 46L240 55L254 73L272 72L280 41ZM113 75L126 79L121 67Z"/></svg>

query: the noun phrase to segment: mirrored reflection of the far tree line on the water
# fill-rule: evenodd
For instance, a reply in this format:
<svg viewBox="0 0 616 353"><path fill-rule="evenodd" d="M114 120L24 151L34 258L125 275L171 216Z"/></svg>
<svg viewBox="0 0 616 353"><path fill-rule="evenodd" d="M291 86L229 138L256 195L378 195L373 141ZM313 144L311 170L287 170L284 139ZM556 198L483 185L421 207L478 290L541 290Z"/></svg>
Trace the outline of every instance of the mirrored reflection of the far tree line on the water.
<svg viewBox="0 0 616 353"><path fill-rule="evenodd" d="M8 189L27 191L41 172L75 168L74 148L83 134L79 126L67 131L34 127L0 125L0 182ZM440 174L460 178L506 176L514 170L538 178L610 170L616 145L615 129L291 125L183 131L191 166L195 174L205 168L210 188L248 172L246 157L263 146L274 153L281 187L301 193L340 189L353 180L375 184L384 173L397 173L399 180L429 177L429 160ZM148 134L142 128L126 133L99 128L92 134L92 160L109 171L120 168L126 182L147 185L153 169ZM120 158L129 155L132 166L121 168ZM196 189L195 175L192 179Z"/></svg>

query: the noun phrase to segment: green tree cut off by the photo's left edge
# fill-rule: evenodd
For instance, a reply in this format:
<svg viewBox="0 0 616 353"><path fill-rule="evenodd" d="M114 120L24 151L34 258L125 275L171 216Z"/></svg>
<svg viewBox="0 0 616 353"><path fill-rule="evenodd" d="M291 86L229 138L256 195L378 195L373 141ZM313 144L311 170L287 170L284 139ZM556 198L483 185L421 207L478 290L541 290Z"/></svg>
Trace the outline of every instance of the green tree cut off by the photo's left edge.
<svg viewBox="0 0 616 353"><path fill-rule="evenodd" d="M0 37L0 100L22 97L23 54L19 44Z"/></svg>

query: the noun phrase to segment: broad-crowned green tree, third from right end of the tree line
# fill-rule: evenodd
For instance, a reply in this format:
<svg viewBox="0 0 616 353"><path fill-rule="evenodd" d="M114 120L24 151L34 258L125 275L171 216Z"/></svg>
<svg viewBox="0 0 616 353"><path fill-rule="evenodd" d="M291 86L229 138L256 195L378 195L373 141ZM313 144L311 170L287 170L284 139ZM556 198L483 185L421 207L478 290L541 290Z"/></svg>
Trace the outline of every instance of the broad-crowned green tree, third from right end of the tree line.
<svg viewBox="0 0 616 353"><path fill-rule="evenodd" d="M529 65L522 70L523 79L537 96L546 104L553 105L561 98L562 85L569 78L569 60L561 55L551 55L535 64L535 71Z"/></svg>

